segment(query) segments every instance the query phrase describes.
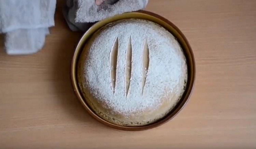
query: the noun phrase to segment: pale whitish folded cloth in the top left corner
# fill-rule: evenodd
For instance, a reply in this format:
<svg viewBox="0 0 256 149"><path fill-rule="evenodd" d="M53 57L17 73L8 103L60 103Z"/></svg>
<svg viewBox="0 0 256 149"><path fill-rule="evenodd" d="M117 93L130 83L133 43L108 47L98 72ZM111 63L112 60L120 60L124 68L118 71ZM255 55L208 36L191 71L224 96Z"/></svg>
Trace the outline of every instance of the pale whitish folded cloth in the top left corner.
<svg viewBox="0 0 256 149"><path fill-rule="evenodd" d="M0 32L6 53L32 54L40 50L54 26L56 0L0 0Z"/></svg>

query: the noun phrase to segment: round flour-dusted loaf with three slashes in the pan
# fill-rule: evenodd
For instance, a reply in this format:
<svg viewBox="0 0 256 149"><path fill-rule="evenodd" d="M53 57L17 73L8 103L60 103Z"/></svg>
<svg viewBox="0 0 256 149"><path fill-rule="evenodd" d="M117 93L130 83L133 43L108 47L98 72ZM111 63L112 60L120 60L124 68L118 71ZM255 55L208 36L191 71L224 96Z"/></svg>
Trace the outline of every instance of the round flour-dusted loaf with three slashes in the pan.
<svg viewBox="0 0 256 149"><path fill-rule="evenodd" d="M86 42L77 79L99 117L143 126L165 117L179 102L187 64L179 42L165 28L125 19L104 26Z"/></svg>

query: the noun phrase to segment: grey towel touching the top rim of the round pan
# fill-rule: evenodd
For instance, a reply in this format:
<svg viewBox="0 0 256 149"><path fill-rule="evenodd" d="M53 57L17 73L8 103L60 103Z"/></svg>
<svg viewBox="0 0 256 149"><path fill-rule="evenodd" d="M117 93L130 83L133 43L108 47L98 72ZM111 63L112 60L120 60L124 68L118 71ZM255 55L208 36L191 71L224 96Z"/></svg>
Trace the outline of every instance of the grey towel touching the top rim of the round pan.
<svg viewBox="0 0 256 149"><path fill-rule="evenodd" d="M122 14L144 9L148 0L106 0L100 6L95 0L67 0L63 14L73 31L86 31L93 22Z"/></svg>

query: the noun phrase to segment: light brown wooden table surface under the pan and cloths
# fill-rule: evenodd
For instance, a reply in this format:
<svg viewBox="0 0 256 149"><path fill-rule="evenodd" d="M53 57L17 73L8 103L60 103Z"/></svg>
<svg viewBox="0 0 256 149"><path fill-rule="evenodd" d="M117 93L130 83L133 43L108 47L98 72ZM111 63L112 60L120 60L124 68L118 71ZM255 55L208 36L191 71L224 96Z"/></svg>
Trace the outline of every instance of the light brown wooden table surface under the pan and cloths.
<svg viewBox="0 0 256 149"><path fill-rule="evenodd" d="M90 117L73 93L71 32L58 0L43 49L8 56L0 38L0 148L256 148L256 1L150 0L172 21L196 60L185 108L158 128L126 132Z"/></svg>

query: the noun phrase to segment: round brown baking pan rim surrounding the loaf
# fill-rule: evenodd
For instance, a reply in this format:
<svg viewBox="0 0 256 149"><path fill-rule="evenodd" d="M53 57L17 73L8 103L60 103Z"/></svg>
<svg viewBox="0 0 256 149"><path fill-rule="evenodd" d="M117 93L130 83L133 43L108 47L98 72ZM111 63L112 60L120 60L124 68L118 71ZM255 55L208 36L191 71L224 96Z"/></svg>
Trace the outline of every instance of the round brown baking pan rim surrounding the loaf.
<svg viewBox="0 0 256 149"><path fill-rule="evenodd" d="M81 54L82 50L84 49L84 45L86 44L86 41L97 30L99 30L103 26L105 26L109 23L113 23L118 20L131 19L131 18L152 21L152 22L158 24L159 26L162 26L163 28L167 29L170 33L172 33L173 36L177 39L177 41L180 43L180 45L183 49L183 53L184 53L184 55L186 57L186 61L187 61L187 71L188 71L188 79L187 79L186 89L182 95L182 98L177 103L177 105L162 119L160 119L154 123L150 123L148 125L137 126L137 127L116 125L116 124L110 123L110 122L102 119L101 117L99 117L96 113L94 113L94 111L86 103L86 100L84 99L84 96L81 93L78 82L77 82L77 62L79 61L80 54ZM79 98L79 100L81 101L81 103L83 104L83 106L85 107L87 112L92 117L94 117L96 120L98 120L99 122L101 122L105 125L108 125L115 129L126 130L126 131L139 131L139 130L155 128L163 123L166 123L167 121L172 119L175 115L177 115L179 113L179 111L187 103L189 96L192 93L194 83L195 83L195 74L196 74L196 70L195 70L194 55L193 55L192 49L191 49L187 39L183 35L183 33L174 24L172 24L169 20L167 20L155 13L148 12L148 11L137 11L137 12L130 12L130 13L124 13L124 14L120 14L120 15L115 15L113 17L106 18L106 19L94 24L87 32L84 33L81 40L77 44L75 52L74 52L74 56L73 56L73 59L71 62L72 85L73 85L73 88L74 88L74 91L75 91L77 97Z"/></svg>

